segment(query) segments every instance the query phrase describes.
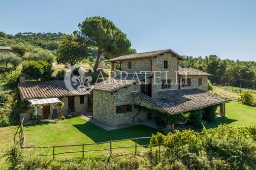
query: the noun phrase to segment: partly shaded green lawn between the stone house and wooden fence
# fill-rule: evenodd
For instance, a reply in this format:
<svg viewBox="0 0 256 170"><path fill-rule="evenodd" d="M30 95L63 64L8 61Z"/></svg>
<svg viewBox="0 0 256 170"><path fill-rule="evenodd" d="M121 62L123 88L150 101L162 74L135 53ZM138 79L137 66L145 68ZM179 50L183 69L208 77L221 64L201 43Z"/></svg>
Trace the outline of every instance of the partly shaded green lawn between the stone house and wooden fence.
<svg viewBox="0 0 256 170"><path fill-rule="evenodd" d="M106 142L110 140L122 140L136 137L150 137L152 134L156 134L157 130L146 126L132 126L124 129L106 131L97 127L96 125L85 121L80 117L73 117L71 119L58 120L56 122L46 122L38 125L26 125L24 126L26 134L26 146L58 146L58 145L70 145L70 144L82 144L82 143L95 143ZM138 145L149 144L149 140L137 141ZM102 149L109 148L109 143L85 146L85 150L90 149ZM120 146L134 146L134 141L113 142L112 147ZM139 147L138 151L145 149ZM81 151L82 146L56 148L55 153L65 151ZM115 149L113 153L125 153L133 151L134 148L128 149ZM36 152L35 154L52 153L51 149L36 149L29 151ZM109 154L109 150L100 152L88 152L90 155ZM65 155L58 155L56 158L67 157L80 157L82 153L72 153Z"/></svg>

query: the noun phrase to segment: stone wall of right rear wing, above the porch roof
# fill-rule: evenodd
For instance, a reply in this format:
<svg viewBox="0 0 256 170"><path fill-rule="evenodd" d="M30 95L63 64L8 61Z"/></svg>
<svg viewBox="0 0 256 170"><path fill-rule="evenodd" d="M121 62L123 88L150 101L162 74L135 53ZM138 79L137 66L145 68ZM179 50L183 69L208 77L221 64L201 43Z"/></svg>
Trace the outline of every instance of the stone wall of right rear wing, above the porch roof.
<svg viewBox="0 0 256 170"><path fill-rule="evenodd" d="M185 79L185 76L181 77L181 83L182 83L182 78ZM207 91L208 88L208 83L207 83L207 76L187 76L187 78L191 78L191 86L182 86L181 89L188 89L188 88L199 88L202 90ZM198 85L198 78L202 78L202 85Z"/></svg>

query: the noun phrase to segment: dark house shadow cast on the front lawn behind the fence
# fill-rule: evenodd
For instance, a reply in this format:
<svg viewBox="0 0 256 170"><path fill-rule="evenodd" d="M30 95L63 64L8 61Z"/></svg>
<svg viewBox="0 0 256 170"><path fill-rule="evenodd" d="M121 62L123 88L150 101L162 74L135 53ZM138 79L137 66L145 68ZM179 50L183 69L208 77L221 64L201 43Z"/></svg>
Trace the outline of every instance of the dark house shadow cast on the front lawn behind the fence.
<svg viewBox="0 0 256 170"><path fill-rule="evenodd" d="M94 142L106 142L110 140L123 140L139 137L151 137L152 134L156 134L158 131L147 126L138 125L128 128L107 131L90 122L84 124L73 125L80 132L91 138ZM149 139L137 140L140 145L149 144ZM135 141L134 141L135 142Z"/></svg>

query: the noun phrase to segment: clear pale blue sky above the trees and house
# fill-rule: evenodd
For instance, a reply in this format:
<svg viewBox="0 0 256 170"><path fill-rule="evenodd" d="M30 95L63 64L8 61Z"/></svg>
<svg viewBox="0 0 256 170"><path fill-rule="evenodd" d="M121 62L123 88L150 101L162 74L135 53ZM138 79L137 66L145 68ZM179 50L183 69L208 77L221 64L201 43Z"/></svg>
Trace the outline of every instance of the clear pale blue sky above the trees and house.
<svg viewBox="0 0 256 170"><path fill-rule="evenodd" d="M0 31L64 32L103 16L137 52L256 61L256 0L3 0Z"/></svg>

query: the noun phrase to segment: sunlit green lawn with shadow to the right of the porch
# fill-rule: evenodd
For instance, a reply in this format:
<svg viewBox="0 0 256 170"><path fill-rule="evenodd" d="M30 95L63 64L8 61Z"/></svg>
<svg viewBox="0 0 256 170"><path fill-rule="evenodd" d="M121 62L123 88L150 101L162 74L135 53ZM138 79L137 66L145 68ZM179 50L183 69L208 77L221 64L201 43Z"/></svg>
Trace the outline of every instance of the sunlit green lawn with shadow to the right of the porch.
<svg viewBox="0 0 256 170"><path fill-rule="evenodd" d="M256 126L256 107L250 107L237 102L226 103L225 117L217 118L216 122L204 123L205 127L217 127L221 123L234 126Z"/></svg>

